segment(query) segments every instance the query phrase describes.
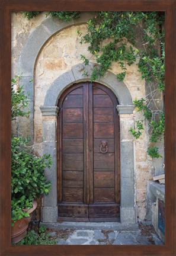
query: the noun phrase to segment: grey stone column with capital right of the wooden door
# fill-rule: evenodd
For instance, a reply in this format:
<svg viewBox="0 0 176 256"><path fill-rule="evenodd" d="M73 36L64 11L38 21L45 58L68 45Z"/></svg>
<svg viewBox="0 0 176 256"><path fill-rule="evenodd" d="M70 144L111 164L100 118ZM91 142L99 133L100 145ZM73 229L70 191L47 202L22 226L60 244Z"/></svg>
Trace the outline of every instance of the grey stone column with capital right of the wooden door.
<svg viewBox="0 0 176 256"><path fill-rule="evenodd" d="M134 176L134 142L129 132L134 127L134 105L117 105L120 116L120 221L137 223Z"/></svg>

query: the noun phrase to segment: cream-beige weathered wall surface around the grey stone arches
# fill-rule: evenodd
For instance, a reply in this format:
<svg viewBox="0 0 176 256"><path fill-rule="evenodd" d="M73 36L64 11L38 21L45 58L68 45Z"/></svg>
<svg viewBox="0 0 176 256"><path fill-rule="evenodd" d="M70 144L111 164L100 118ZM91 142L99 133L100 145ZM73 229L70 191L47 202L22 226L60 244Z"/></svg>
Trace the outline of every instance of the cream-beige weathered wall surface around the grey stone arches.
<svg viewBox="0 0 176 256"><path fill-rule="evenodd" d="M21 75L21 73L17 73L20 72L18 63L21 51L23 47L25 47L31 34L45 21L44 13L33 18L31 21L24 18L21 13L12 14L12 76ZM57 22L59 23L59 21ZM28 84L25 91L30 92L29 104L31 109L33 109L34 106L34 112L31 114L29 121L24 122L24 119L18 120L18 130L24 135L31 135L33 137L34 150L37 155L42 155L43 153L42 115L40 107L44 104L47 90L60 75L71 70L76 64L82 63L80 59L81 54L87 56L91 62L95 62L95 59L93 59L87 51L87 46L79 43L79 37L76 33L77 30L80 30L82 34L84 34L86 28L87 24L72 24L70 27L64 28L58 33L53 34L53 36L50 36L41 47L39 55L36 58L33 83L29 84L28 81L26 81L26 79L30 79L28 76L23 79L23 82ZM42 34L37 34L39 39L40 36L42 36ZM25 55L26 62L28 61L28 55L30 55L30 52L27 52ZM113 63L111 72L114 74L121 72L120 66L117 63ZM135 98L145 98L145 81L140 78L140 73L137 71L135 64L127 67L124 84L126 84L129 89L132 100L135 100ZM142 114L134 110L133 118L135 121L139 120L142 118ZM127 127L127 125L129 126L129 122L124 118L121 122L120 129L126 131L126 135L124 135L126 136L126 140L129 137L128 130L130 129L130 126ZM148 127L146 126L140 139L134 140L133 142L135 149L135 204L137 206L137 216L140 220L146 219L146 184L148 180L152 179L152 174L155 174L155 169L156 171L158 170L157 174L163 172L161 159L153 162L146 154L148 140ZM161 143L161 148L163 147L162 145ZM124 161L127 161L127 159L124 159Z"/></svg>

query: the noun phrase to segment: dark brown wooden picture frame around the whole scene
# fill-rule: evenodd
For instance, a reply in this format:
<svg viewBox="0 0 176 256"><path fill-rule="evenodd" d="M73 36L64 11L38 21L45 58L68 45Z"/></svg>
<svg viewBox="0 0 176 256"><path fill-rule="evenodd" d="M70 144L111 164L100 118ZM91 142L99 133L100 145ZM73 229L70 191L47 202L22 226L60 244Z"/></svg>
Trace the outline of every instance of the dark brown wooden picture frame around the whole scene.
<svg viewBox="0 0 176 256"><path fill-rule="evenodd" d="M11 245L11 12L165 11L165 245ZM175 1L1 0L1 255L175 255Z"/></svg>

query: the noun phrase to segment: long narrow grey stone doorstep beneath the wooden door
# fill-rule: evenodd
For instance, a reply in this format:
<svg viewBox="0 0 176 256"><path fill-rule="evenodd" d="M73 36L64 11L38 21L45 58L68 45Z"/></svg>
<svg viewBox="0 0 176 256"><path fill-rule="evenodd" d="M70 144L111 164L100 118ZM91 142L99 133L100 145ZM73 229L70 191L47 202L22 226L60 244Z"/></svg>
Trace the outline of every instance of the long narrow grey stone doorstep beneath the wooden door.
<svg viewBox="0 0 176 256"><path fill-rule="evenodd" d="M126 225L120 222L40 222L39 226L42 225L46 225L47 228L53 229L139 231L138 223Z"/></svg>

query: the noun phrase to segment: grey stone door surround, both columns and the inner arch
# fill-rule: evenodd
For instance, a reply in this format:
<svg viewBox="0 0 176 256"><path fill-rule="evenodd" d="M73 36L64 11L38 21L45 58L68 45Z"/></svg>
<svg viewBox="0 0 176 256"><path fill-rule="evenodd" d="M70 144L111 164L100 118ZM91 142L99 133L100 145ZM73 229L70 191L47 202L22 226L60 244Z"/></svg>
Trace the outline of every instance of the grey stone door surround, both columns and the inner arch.
<svg viewBox="0 0 176 256"><path fill-rule="evenodd" d="M43 153L50 153L53 161L52 169L46 170L47 178L52 181L52 188L49 195L43 198L41 209L43 223L57 222L56 125L59 113L59 108L56 107L57 101L62 92L74 83L90 81L90 76L84 78L83 73L84 71L91 73L94 65L97 64L90 63L88 66L79 64L59 76L48 89L44 105L40 107L43 116ZM132 97L124 82L117 81L116 75L111 72L106 72L97 82L110 88L119 101L117 110L120 115L120 221L124 224L136 223L133 136L129 133L130 127L134 127Z"/></svg>

